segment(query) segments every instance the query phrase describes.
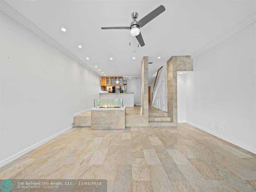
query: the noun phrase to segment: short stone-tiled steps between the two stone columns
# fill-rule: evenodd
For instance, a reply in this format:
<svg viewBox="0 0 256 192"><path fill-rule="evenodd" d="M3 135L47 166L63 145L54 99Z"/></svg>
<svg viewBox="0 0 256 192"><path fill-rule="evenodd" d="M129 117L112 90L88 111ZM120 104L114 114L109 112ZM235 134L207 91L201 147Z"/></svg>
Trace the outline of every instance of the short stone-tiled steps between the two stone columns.
<svg viewBox="0 0 256 192"><path fill-rule="evenodd" d="M148 113L148 126L150 127L166 127L172 126L170 117L167 117L167 113Z"/></svg>

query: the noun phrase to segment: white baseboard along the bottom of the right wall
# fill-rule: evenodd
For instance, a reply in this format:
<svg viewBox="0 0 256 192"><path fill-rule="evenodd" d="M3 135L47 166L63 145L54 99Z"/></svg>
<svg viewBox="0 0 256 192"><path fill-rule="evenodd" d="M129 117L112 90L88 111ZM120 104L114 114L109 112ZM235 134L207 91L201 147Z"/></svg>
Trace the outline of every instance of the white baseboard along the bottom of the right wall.
<svg viewBox="0 0 256 192"><path fill-rule="evenodd" d="M190 125L192 125L192 126L194 126L194 127L196 127L196 128L198 128L198 129L201 129L201 130L203 130L203 131L205 131L205 132L207 132L207 133L210 133L210 134L212 134L212 135L214 135L214 136L216 136L216 137L219 137L220 139L223 139L223 140L225 140L225 141L228 141L229 143L232 143L232 144L234 144L234 145L236 145L236 146L238 146L238 147L241 147L241 148L243 148L243 149L246 149L247 151L250 151L250 152L256 154L256 150L255 150L255 149L253 149L253 148L251 148L251 147L248 147L248 146L246 146L246 145L244 145L244 144L242 144L242 143L239 143L239 142L237 142L237 141L234 141L234 140L232 140L232 139L229 139L228 137L225 137L225 136L223 136L223 135L220 135L219 133L213 132L213 131L211 131L211 130L209 130L209 129L206 129L206 128L204 128L204 127L201 127L200 125L194 124L194 123L192 123L192 122L186 121L186 123L187 123L187 124L190 124Z"/></svg>

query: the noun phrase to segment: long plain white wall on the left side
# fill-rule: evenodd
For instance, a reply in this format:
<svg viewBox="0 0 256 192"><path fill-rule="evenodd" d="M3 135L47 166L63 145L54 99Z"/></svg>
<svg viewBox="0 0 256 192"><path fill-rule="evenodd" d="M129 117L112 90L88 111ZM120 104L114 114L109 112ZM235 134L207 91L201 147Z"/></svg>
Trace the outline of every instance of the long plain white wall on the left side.
<svg viewBox="0 0 256 192"><path fill-rule="evenodd" d="M0 13L3 165L22 153L6 158L70 127L74 113L92 108L100 78Z"/></svg>

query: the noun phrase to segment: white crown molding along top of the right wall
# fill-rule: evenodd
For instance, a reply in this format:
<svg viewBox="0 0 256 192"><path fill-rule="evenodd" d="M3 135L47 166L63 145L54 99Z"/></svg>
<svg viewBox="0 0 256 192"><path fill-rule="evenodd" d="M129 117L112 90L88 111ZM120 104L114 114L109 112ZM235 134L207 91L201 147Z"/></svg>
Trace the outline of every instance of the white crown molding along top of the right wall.
<svg viewBox="0 0 256 192"><path fill-rule="evenodd" d="M228 38L229 36L235 34L237 31L241 30L242 28L250 25L251 23L253 23L254 21L256 21L256 13L254 13L253 15L251 15L250 17L248 17L247 19L243 20L242 22L240 22L238 25L236 25L234 28L226 31L225 33L223 33L221 36L219 36L218 38L216 38L215 40L213 40L211 43L205 45L204 47L202 47L201 49L199 49L198 51L196 51L195 53L193 53L191 55L192 58L195 58L196 56L200 55L201 53L205 52L206 50L210 49L211 47L213 47L214 45L220 43L221 41L223 41L224 39Z"/></svg>

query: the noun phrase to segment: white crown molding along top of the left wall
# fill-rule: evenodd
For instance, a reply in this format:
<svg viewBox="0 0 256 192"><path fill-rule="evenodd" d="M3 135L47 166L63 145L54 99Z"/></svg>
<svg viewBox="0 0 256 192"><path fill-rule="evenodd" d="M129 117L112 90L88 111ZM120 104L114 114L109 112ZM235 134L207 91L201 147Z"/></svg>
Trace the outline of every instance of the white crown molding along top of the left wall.
<svg viewBox="0 0 256 192"><path fill-rule="evenodd" d="M59 44L57 41L55 41L51 36L49 36L47 33L45 33L42 29L38 28L34 23L32 23L30 20L25 18L23 15L21 15L18 11L16 11L12 6L4 2L3 0L0 0L0 10L5 12L7 15L12 17L13 19L17 20L19 23L36 33L38 36L43 38L48 43L52 44L54 47L59 49L61 52L68 55L70 58L75 60L77 63L81 64L85 68L87 68L89 71L91 71L96 76L100 75L94 71L91 67L89 67L84 61L80 60L76 55L74 55L72 52L68 51L65 47L63 47L61 44Z"/></svg>

